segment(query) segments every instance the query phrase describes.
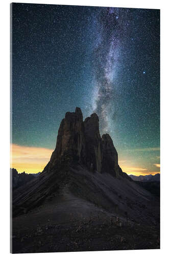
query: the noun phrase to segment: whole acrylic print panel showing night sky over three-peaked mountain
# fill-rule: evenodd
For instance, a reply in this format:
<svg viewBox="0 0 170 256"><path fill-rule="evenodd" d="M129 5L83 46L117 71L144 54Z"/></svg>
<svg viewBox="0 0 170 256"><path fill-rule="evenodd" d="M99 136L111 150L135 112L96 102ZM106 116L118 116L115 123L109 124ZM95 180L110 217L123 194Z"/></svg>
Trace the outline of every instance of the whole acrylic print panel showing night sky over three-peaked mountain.
<svg viewBox="0 0 170 256"><path fill-rule="evenodd" d="M11 7L11 251L158 249L160 11Z"/></svg>

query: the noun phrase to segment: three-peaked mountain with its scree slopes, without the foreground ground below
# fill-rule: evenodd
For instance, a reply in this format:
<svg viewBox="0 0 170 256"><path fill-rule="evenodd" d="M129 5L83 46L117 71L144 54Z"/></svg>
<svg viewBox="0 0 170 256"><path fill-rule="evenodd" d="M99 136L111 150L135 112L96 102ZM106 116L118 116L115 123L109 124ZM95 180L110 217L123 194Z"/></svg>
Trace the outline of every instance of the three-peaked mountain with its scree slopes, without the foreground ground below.
<svg viewBox="0 0 170 256"><path fill-rule="evenodd" d="M159 218L158 211L152 213L154 197L119 167L109 134L101 138L98 116L94 113L83 121L80 108L65 114L56 148L43 172L14 191L13 216L46 205L53 198L61 202L72 197L83 200L84 207L91 202L124 218L126 212L137 222ZM70 209L75 207L69 202Z"/></svg>

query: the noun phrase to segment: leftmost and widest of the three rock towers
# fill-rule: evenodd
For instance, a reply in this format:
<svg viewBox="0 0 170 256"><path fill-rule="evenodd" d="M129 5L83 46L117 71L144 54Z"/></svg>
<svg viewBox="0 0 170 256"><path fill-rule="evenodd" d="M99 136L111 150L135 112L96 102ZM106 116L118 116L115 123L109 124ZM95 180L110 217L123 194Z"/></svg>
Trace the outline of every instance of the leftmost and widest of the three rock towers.
<svg viewBox="0 0 170 256"><path fill-rule="evenodd" d="M61 121L55 151L53 152L47 168L50 170L55 165L83 162L85 158L85 138L83 115L80 108L73 113L67 112Z"/></svg>

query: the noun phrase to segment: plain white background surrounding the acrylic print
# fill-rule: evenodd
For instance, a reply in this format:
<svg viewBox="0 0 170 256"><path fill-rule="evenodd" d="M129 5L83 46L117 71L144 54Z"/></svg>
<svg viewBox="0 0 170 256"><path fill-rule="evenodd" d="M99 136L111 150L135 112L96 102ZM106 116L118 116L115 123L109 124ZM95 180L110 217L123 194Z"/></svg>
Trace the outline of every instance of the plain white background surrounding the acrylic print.
<svg viewBox="0 0 170 256"><path fill-rule="evenodd" d="M156 0L70 0L70 1L14 1L16 3L39 3L39 4L65 4L65 5L86 5L86 6L110 6L110 7L129 7L129 8L151 8L161 9L161 249L160 250L130 250L130 251L98 251L98 252L69 252L64 255L169 255L170 247L170 177L169 177L169 4L168 1ZM0 253L1 255L10 254L10 1L2 1L1 6L1 84L0 84ZM21 254L28 255L28 254ZM44 253L34 253L33 255L44 255ZM50 254L47 254L50 255ZM58 253L57 255L61 255Z"/></svg>

